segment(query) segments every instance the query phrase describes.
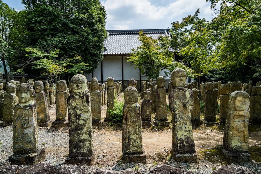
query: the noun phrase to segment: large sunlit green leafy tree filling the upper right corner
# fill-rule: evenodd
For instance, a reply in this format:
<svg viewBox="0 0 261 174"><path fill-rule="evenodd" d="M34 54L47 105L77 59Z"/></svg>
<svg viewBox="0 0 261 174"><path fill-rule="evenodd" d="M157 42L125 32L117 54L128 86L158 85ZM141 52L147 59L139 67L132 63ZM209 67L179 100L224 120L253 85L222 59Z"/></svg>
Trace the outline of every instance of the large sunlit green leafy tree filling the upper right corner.
<svg viewBox="0 0 261 174"><path fill-rule="evenodd" d="M172 23L171 45L185 57L197 73L214 68L240 71L242 65L261 78L261 3L260 0L218 0L211 2L217 13L211 22L193 16ZM243 66L243 67L244 67Z"/></svg>

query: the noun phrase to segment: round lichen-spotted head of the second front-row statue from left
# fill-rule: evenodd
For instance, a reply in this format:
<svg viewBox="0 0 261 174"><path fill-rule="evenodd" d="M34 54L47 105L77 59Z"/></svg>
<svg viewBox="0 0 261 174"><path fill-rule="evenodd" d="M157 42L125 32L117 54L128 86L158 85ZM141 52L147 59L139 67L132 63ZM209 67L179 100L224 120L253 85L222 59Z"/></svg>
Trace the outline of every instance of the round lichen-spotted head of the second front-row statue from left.
<svg viewBox="0 0 261 174"><path fill-rule="evenodd" d="M73 93L81 93L87 89L87 79L84 75L77 74L71 78L71 89Z"/></svg>

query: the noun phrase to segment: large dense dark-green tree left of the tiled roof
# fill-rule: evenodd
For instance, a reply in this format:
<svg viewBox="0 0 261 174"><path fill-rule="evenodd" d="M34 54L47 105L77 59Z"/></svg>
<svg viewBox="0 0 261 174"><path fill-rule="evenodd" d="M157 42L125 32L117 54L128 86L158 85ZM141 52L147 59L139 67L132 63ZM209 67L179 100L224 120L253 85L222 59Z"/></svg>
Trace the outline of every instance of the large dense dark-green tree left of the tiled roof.
<svg viewBox="0 0 261 174"><path fill-rule="evenodd" d="M22 3L26 7L23 10L26 48L39 48L47 53L59 50L57 61L66 62L68 66L77 62L77 66L68 68L71 69L68 73L90 73L97 68L103 58L103 41L107 36L106 11L98 0L22 0ZM20 64L20 67L24 66L26 73L32 73L30 67L37 59L39 57L28 61L28 57L21 55L19 60L26 64Z"/></svg>

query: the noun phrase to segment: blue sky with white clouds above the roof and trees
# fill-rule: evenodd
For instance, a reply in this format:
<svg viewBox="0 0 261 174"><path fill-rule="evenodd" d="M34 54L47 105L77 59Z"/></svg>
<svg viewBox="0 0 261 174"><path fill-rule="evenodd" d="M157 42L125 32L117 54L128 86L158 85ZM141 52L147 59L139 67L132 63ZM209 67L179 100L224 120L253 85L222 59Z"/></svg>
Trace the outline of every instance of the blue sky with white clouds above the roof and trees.
<svg viewBox="0 0 261 174"><path fill-rule="evenodd" d="M200 8L199 17L211 20L213 11L206 0L99 0L105 6L106 30L171 28L171 23L193 15ZM19 11L21 0L3 0Z"/></svg>

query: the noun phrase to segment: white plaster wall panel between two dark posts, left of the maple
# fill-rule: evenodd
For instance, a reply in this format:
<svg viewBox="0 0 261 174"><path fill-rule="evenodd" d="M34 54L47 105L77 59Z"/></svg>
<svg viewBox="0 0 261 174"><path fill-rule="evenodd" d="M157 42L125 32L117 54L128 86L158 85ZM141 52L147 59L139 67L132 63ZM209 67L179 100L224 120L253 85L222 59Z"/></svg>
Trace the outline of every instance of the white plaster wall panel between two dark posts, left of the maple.
<svg viewBox="0 0 261 174"><path fill-rule="evenodd" d="M102 67L104 81L108 77L113 77L115 81L122 80L122 57L106 56L103 58Z"/></svg>

